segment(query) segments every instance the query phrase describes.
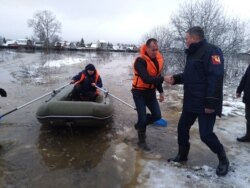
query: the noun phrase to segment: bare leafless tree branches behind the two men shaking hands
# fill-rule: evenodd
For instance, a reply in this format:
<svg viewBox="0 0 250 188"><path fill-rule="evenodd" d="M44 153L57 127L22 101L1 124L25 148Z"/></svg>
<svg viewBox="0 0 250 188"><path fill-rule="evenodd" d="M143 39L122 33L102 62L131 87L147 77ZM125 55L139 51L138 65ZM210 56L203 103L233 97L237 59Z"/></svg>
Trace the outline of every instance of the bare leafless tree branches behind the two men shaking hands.
<svg viewBox="0 0 250 188"><path fill-rule="evenodd" d="M249 52L249 25L237 17L228 17L217 0L189 0L180 4L168 25L154 27L143 36L143 40L149 37L156 38L163 53L167 49L184 49L185 32L193 26L201 26L207 41L222 49L225 55L225 77L236 74L239 53ZM177 70L183 69L184 53L176 54L174 57L166 56L167 61L174 62Z"/></svg>

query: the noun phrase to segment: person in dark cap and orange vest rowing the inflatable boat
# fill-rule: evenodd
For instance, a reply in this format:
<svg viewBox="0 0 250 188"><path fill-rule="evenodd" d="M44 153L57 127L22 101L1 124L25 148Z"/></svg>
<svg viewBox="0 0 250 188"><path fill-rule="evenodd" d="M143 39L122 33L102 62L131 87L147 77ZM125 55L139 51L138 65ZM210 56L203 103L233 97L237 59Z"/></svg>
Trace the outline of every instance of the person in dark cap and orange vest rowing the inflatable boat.
<svg viewBox="0 0 250 188"><path fill-rule="evenodd" d="M93 64L88 64L70 83L75 84L71 98L76 101L95 101L98 96L95 86L102 87L102 79Z"/></svg>

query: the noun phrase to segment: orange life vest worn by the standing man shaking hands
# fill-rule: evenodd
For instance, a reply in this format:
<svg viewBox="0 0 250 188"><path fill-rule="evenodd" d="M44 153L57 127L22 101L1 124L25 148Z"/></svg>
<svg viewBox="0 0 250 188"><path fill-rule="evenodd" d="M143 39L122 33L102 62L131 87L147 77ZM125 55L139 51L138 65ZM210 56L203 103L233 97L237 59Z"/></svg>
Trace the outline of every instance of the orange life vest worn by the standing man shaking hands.
<svg viewBox="0 0 250 188"><path fill-rule="evenodd" d="M163 69L164 59L160 52L157 52L156 59L159 64L159 71L157 71L157 68L154 64L154 62L146 55L146 44L144 44L140 49L140 57L143 58L147 63L147 72L150 76L160 76L161 71ZM133 85L132 87L134 89L153 89L155 88L154 84L147 84L144 83L138 72L135 70L135 63L134 63L134 75L133 75Z"/></svg>

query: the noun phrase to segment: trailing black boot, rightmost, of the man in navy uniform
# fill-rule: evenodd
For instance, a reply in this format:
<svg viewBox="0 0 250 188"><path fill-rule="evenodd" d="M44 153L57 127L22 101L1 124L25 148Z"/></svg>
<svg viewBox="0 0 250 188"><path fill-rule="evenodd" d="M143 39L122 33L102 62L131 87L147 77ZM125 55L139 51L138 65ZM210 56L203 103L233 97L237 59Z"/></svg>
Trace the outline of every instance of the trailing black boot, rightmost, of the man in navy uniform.
<svg viewBox="0 0 250 188"><path fill-rule="evenodd" d="M228 161L228 158L226 156L226 152L223 149L217 155L218 155L218 159L219 159L219 165L217 166L216 174L218 176L225 176L228 172L228 167L229 167L229 161Z"/></svg>

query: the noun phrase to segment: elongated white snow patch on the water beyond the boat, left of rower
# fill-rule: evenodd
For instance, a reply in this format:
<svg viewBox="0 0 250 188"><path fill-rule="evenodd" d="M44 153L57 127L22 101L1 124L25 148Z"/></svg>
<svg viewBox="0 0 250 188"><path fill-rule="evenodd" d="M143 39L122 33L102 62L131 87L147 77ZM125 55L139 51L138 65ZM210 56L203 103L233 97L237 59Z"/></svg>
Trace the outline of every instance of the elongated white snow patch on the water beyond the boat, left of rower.
<svg viewBox="0 0 250 188"><path fill-rule="evenodd" d="M60 60L47 61L44 64L44 67L61 67L61 66L65 66L65 65L68 66L68 65L83 63L85 61L86 61L86 59L83 59L83 58L68 57L68 58L64 58L64 59L60 59Z"/></svg>

